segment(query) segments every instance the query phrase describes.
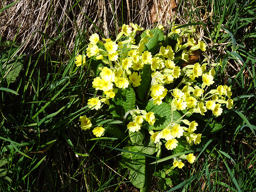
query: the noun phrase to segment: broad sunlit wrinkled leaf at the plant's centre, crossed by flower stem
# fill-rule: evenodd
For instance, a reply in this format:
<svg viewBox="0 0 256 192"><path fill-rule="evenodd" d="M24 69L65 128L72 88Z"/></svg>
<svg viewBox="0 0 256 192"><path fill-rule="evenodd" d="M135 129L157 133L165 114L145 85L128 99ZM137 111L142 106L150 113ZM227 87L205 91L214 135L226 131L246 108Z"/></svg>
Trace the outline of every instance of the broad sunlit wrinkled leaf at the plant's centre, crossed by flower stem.
<svg viewBox="0 0 256 192"><path fill-rule="evenodd" d="M172 108L170 104L162 103L160 105L154 105L153 101L148 102L148 105L146 106L146 110L148 112L154 112L156 122L154 125L150 125L148 127L149 130L162 130L166 128L170 124L170 122L175 122L176 120L181 118L181 115L178 111L173 112L173 120L172 117ZM182 120L182 119L180 119ZM146 128L146 125L145 125Z"/></svg>

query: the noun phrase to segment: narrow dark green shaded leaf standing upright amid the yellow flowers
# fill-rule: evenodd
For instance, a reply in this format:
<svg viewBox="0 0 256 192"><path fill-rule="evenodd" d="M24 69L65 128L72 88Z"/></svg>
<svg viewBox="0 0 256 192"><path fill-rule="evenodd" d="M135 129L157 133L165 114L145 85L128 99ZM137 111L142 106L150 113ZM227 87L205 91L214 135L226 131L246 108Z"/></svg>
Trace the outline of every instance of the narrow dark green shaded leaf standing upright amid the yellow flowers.
<svg viewBox="0 0 256 192"><path fill-rule="evenodd" d="M140 86L138 86L138 94L140 100L144 100L146 95L148 94L148 89L151 84L151 69L150 65L144 65L141 73L141 82Z"/></svg>

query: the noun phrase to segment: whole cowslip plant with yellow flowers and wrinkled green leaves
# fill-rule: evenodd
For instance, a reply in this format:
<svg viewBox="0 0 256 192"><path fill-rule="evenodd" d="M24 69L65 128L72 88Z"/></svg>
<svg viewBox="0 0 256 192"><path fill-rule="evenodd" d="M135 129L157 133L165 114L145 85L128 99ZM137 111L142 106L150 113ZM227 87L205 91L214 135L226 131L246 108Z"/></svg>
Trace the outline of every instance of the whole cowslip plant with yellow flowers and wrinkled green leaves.
<svg viewBox="0 0 256 192"><path fill-rule="evenodd" d="M184 153L172 158L169 171L193 164L196 157L185 151L200 144L202 133L191 117L220 116L223 107L233 105L230 86L214 84L215 70L206 59L186 65L193 51L206 51L206 44L196 41L190 28L173 26L164 35L160 28L144 30L133 23L124 24L115 40L92 34L89 41L86 53L76 57L76 66L88 66L87 57L94 69L95 92L87 104L95 113L92 119L98 120L92 125L82 116L80 127L95 126L96 137L105 132L116 138L120 132L128 134L120 165L130 170L130 181L142 191L148 188L149 166L143 154L156 154L159 160L162 151L167 152L164 156Z"/></svg>

